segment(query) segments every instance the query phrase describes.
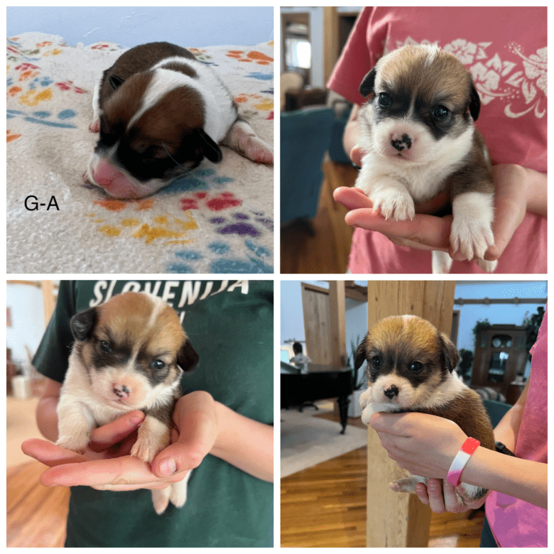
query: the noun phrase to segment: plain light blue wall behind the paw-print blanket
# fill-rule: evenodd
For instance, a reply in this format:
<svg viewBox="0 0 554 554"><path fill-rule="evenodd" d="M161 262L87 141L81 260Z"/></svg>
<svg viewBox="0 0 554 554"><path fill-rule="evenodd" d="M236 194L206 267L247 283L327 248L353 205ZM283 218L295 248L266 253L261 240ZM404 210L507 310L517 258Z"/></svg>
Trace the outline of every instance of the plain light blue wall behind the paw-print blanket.
<svg viewBox="0 0 554 554"><path fill-rule="evenodd" d="M270 7L9 7L7 36L41 31L85 46L108 40L136 46L167 40L181 46L254 45L273 39Z"/></svg>

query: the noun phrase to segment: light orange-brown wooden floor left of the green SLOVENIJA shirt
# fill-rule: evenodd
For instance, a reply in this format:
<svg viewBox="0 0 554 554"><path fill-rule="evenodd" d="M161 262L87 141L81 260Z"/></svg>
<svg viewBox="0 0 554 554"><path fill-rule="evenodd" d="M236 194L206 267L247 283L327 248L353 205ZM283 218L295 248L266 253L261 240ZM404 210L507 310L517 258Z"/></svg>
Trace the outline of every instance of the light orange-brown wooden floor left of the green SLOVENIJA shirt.
<svg viewBox="0 0 554 554"><path fill-rule="evenodd" d="M70 489L43 487L40 462L11 467L6 479L6 545L63 547Z"/></svg>

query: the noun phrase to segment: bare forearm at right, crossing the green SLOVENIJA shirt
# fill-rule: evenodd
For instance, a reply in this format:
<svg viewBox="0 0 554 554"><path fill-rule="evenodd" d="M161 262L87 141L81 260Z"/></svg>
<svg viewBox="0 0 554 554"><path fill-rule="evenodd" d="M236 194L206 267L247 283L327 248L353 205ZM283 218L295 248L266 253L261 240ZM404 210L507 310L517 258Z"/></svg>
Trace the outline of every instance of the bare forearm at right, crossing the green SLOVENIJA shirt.
<svg viewBox="0 0 554 554"><path fill-rule="evenodd" d="M210 454L264 481L273 482L273 427L215 402L217 438Z"/></svg>

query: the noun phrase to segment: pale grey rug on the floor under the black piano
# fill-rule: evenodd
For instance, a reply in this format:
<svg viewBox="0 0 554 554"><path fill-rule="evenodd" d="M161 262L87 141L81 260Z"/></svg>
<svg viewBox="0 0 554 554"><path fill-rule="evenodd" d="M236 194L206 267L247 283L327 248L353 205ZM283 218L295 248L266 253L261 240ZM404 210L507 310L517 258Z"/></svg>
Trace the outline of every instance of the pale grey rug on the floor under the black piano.
<svg viewBox="0 0 554 554"><path fill-rule="evenodd" d="M314 408L281 410L281 477L367 444L366 429L348 425L341 435L340 423L313 417L320 413Z"/></svg>

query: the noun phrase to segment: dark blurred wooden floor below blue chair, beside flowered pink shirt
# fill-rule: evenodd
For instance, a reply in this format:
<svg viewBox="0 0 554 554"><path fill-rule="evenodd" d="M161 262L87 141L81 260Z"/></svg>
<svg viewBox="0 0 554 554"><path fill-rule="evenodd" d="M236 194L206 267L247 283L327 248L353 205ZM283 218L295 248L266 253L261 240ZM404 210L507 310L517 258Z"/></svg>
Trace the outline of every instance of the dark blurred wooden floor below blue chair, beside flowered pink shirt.
<svg viewBox="0 0 554 554"><path fill-rule="evenodd" d="M347 209L332 192L352 186L358 171L351 165L326 161L317 214L310 222L315 236L298 225L281 229L281 273L345 273L354 229L344 223Z"/></svg>

